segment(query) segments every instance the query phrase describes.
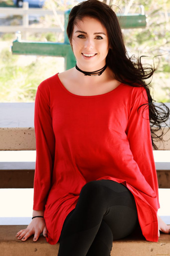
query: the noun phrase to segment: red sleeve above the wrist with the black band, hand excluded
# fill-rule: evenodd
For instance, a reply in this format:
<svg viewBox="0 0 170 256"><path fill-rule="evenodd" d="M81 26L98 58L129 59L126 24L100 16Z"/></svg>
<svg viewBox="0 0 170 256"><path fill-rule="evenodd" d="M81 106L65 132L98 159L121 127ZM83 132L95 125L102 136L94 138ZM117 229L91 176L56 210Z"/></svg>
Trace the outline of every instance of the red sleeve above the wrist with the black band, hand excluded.
<svg viewBox="0 0 170 256"><path fill-rule="evenodd" d="M33 210L36 211L45 210L55 158L55 135L47 80L38 86L35 99L36 169Z"/></svg>

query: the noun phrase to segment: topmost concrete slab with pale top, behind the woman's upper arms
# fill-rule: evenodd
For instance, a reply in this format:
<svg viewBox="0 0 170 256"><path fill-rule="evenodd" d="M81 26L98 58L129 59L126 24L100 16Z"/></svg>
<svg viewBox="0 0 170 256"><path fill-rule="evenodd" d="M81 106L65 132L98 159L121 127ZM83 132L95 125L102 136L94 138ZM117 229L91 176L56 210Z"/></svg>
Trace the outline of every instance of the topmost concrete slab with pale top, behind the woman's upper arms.
<svg viewBox="0 0 170 256"><path fill-rule="evenodd" d="M155 103L157 107L160 105ZM165 105L170 109L170 102ZM0 102L0 150L36 150L34 110L35 102ZM170 129L163 125L157 135L163 132L164 143L154 142L159 150L170 150Z"/></svg>

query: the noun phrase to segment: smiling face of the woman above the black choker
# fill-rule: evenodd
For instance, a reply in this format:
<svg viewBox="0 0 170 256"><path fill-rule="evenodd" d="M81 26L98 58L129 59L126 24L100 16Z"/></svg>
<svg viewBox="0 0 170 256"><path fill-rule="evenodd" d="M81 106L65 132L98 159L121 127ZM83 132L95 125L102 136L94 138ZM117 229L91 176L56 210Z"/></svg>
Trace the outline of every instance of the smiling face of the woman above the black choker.
<svg viewBox="0 0 170 256"><path fill-rule="evenodd" d="M99 20L91 17L78 20L73 28L71 44L80 69L96 71L106 65L108 35Z"/></svg>

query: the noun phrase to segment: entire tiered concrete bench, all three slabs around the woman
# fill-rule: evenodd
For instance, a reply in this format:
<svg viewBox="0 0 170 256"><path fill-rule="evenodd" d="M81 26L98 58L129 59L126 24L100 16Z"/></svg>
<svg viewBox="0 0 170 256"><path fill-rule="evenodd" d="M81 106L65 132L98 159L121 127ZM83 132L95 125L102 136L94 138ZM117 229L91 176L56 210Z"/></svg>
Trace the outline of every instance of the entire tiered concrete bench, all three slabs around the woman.
<svg viewBox="0 0 170 256"><path fill-rule="evenodd" d="M166 103L170 108L170 103ZM0 150L36 150L33 124L34 103L0 103ZM158 150L170 150L170 130L163 127L165 142L157 143ZM170 188L170 163L156 162L159 188ZM0 162L0 188L32 188L35 162ZM168 223L170 224L170 223ZM0 255L57 255L59 243L50 245L42 235L37 242L33 236L27 242L19 241L16 233L26 228L22 225L0 226ZM170 228L170 225L169 225ZM140 230L113 241L111 256L170 256L170 236L160 234L158 243L148 242ZM72 255L71 255L72 256ZM95 255L94 255L95 256Z"/></svg>

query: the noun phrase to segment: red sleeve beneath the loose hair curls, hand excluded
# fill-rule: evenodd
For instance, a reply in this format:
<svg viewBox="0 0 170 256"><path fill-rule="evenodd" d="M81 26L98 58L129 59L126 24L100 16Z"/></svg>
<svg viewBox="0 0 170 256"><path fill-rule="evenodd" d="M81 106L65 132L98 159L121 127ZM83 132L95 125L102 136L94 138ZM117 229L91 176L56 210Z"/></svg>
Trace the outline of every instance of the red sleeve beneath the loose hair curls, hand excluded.
<svg viewBox="0 0 170 256"><path fill-rule="evenodd" d="M137 87L134 92L138 92L136 93L138 96L135 99L132 97L125 133L129 141L133 162L138 165L138 170L140 170L140 173L137 171L134 173L138 177L135 186L140 184L143 193L145 193L144 196L148 195L148 203L154 207L155 211L158 211L160 207L158 179L151 141L148 96L144 87Z"/></svg>

